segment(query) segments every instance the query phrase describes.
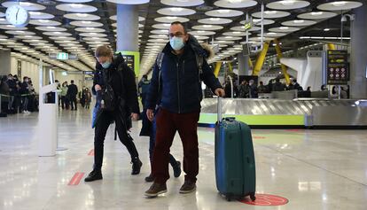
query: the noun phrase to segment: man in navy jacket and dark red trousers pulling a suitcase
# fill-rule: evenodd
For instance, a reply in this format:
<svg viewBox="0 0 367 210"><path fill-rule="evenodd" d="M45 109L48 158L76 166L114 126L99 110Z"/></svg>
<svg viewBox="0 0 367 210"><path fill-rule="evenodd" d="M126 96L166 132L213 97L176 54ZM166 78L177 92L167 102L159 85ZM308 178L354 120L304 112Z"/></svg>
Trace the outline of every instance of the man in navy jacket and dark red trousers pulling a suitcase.
<svg viewBox="0 0 367 210"><path fill-rule="evenodd" d="M156 197L167 192L168 154L176 131L183 143L184 183L180 193L196 191L199 174L198 121L202 99L201 81L217 96L224 96L220 82L205 59L199 69L198 58L207 58L206 51L188 35L181 22L169 27L169 43L153 69L152 81L145 101L147 117L153 120L153 110L160 97L160 110L155 116L156 142L152 158L154 183L145 196ZM162 54L160 54L162 55Z"/></svg>

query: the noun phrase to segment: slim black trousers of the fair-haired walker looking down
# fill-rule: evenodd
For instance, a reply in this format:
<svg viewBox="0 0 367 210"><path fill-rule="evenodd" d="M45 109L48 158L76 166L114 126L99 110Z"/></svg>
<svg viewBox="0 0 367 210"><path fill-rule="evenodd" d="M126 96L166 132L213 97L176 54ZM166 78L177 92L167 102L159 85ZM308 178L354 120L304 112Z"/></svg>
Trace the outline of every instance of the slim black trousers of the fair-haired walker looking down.
<svg viewBox="0 0 367 210"><path fill-rule="evenodd" d="M131 159L139 156L133 139L129 137L125 124L121 121L119 112L104 112L98 115L96 128L94 130L94 169L101 169L103 162L103 148L105 143L105 134L111 122L116 123L117 134L120 141L128 149Z"/></svg>

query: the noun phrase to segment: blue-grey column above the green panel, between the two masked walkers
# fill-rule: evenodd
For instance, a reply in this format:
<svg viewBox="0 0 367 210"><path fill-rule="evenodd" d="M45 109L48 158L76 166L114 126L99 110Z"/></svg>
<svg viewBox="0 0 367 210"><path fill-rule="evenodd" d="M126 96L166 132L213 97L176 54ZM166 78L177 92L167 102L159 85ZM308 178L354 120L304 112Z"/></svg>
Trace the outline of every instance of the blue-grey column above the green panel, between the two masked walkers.
<svg viewBox="0 0 367 210"><path fill-rule="evenodd" d="M117 51L138 51L137 5L117 4Z"/></svg>

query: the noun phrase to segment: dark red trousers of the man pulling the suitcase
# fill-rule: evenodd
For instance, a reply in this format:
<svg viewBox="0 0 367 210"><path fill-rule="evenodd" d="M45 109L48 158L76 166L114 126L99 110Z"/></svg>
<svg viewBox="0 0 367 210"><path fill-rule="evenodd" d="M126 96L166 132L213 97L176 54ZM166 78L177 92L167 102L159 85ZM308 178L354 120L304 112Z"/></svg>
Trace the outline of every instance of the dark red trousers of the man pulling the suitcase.
<svg viewBox="0 0 367 210"><path fill-rule="evenodd" d="M156 116L157 133L152 158L154 182L166 183L169 178L169 148L176 131L183 143L183 171L186 174L184 179L196 182L199 173L198 121L199 112L171 113L160 108Z"/></svg>

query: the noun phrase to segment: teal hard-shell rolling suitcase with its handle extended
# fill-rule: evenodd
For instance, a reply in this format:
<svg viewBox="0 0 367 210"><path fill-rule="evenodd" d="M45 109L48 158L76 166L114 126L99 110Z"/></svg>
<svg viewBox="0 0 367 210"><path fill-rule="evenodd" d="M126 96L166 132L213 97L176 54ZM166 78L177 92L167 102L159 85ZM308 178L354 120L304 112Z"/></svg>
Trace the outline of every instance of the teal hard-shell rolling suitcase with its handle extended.
<svg viewBox="0 0 367 210"><path fill-rule="evenodd" d="M235 118L222 119L218 98L215 125L215 179L218 191L228 201L250 196L255 200L256 172L251 129Z"/></svg>

